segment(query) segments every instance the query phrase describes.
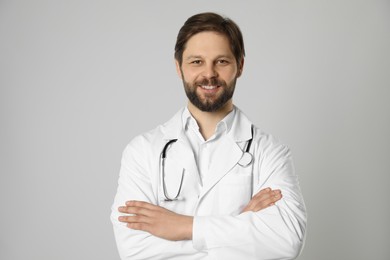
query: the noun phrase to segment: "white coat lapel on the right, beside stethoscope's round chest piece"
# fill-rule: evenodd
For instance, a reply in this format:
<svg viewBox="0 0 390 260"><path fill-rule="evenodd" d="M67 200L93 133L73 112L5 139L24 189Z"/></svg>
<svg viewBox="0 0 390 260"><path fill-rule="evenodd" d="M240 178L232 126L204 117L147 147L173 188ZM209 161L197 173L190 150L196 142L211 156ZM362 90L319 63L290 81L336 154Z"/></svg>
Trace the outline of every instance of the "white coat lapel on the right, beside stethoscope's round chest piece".
<svg viewBox="0 0 390 260"><path fill-rule="evenodd" d="M209 176L205 180L200 196L205 195L217 184L238 163L242 154L243 152L238 144L230 136L224 136L215 150L215 158L213 158Z"/></svg>

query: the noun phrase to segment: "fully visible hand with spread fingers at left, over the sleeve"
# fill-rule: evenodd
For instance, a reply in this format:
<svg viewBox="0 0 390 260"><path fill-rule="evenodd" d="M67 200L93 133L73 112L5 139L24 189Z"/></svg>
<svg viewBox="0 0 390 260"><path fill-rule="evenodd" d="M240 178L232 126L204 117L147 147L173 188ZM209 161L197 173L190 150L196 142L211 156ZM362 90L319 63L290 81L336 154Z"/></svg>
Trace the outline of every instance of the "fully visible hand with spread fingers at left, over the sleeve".
<svg viewBox="0 0 390 260"><path fill-rule="evenodd" d="M118 218L131 229L146 231L172 241L192 239L193 217L180 215L143 201L128 201L126 206L119 207L118 210L133 214Z"/></svg>

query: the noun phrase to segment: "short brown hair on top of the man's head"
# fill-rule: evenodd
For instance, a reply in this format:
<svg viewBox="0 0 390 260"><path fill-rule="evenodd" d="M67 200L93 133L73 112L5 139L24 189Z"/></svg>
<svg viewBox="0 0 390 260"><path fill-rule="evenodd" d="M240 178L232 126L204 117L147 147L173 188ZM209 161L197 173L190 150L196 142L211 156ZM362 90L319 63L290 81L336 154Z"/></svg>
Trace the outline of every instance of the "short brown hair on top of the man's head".
<svg viewBox="0 0 390 260"><path fill-rule="evenodd" d="M222 17L216 13L196 14L188 18L181 27L175 45L175 59L179 64L182 64L183 52L187 41L195 34L204 31L213 31L225 35L229 40L230 48L239 66L245 56L244 40L240 28L229 18Z"/></svg>

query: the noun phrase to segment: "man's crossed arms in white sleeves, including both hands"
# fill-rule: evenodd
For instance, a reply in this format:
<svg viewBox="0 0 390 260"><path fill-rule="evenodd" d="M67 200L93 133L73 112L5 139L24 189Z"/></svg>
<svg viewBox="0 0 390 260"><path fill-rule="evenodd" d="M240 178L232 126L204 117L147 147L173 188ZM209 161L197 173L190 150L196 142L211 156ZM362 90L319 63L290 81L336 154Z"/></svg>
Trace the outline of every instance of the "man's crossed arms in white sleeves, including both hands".
<svg viewBox="0 0 390 260"><path fill-rule="evenodd" d="M242 214L234 216L186 216L145 202L155 201L151 185L155 176L146 174L154 169L145 168L154 164L140 163L149 158L142 152L143 139L129 145L111 212L121 259L200 259L206 255L217 259L226 255L235 259L294 259L304 242L306 209L289 149L267 145L271 141L264 141L263 157L254 164L253 171L259 173L255 175L255 190L280 189L283 198L279 190L261 190ZM273 197L277 194L279 198ZM132 201L125 202L127 198Z"/></svg>

